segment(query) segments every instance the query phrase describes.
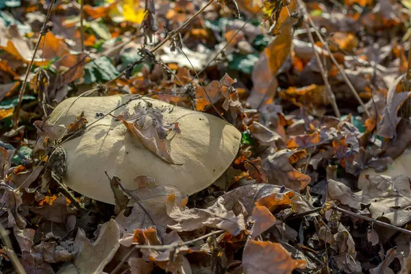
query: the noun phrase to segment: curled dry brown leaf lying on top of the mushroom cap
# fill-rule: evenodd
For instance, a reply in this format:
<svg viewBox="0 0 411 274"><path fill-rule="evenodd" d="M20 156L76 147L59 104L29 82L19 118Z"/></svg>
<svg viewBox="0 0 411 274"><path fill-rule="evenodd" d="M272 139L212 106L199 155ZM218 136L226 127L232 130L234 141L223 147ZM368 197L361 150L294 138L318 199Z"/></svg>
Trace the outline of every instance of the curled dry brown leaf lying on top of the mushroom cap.
<svg viewBox="0 0 411 274"><path fill-rule="evenodd" d="M173 111L160 110L153 107L151 103L139 103L134 108L134 114L129 114L128 110L117 116L123 121L130 132L136 136L140 142L152 153L164 162L175 164L170 155L170 142L167 135L170 132L181 133L178 122L167 124L163 121L162 112Z"/></svg>

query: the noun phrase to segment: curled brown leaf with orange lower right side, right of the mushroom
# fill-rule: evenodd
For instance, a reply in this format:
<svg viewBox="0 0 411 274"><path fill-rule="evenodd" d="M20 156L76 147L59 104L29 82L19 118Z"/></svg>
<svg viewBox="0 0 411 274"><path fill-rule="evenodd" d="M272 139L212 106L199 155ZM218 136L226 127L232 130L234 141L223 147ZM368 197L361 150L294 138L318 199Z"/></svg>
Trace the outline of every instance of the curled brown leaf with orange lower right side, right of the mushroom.
<svg viewBox="0 0 411 274"><path fill-rule="evenodd" d="M264 159L262 166L269 175L270 184L284 185L296 191L303 190L310 184L310 176L297 171L290 164L288 158L294 153L290 149L283 149Z"/></svg>

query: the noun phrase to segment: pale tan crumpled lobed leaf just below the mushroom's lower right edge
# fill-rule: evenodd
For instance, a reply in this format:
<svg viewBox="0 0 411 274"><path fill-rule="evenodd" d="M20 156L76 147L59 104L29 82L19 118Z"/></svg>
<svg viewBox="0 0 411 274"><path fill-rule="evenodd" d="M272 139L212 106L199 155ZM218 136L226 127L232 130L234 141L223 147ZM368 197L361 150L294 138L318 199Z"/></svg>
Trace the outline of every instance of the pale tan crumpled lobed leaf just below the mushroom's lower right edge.
<svg viewBox="0 0 411 274"><path fill-rule="evenodd" d="M184 199L182 203L177 203L175 196L171 195L166 203L167 214L177 224L169 225L169 227L176 232L192 231L203 226L216 227L236 236L245 230L244 215L240 213L236 216L233 211L225 208L223 201L223 197L219 197L216 203L209 208L188 209L187 199Z"/></svg>

